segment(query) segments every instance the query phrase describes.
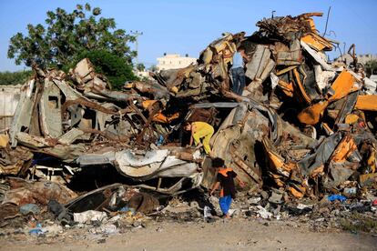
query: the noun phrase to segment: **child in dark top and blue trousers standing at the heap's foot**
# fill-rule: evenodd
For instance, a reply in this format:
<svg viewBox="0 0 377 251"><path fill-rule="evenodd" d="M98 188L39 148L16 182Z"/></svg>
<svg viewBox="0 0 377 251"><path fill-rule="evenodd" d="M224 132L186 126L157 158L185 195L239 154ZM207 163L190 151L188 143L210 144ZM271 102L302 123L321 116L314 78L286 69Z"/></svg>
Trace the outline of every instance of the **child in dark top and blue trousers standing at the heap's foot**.
<svg viewBox="0 0 377 251"><path fill-rule="evenodd" d="M233 169L224 166L224 160L222 158L216 157L212 159L212 167L217 169L218 176L216 178L216 183L209 191L209 195L212 196L213 192L216 191L219 186L221 186L219 206L225 218L230 218L229 208L231 205L231 200L236 197L236 186L234 185L234 178L236 178L239 182L239 186L243 187L245 186L245 184L239 179Z"/></svg>

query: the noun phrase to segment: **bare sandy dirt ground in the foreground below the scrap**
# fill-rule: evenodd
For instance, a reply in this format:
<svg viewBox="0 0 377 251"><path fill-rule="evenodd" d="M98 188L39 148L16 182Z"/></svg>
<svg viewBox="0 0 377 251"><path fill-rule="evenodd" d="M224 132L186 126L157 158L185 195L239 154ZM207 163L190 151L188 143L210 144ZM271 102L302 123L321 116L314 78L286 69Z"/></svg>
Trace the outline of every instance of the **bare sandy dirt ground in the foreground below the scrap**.
<svg viewBox="0 0 377 251"><path fill-rule="evenodd" d="M287 222L231 219L215 223L151 222L115 236L68 230L56 238L0 239L1 250L377 250L377 236ZM85 236L80 238L78 236Z"/></svg>

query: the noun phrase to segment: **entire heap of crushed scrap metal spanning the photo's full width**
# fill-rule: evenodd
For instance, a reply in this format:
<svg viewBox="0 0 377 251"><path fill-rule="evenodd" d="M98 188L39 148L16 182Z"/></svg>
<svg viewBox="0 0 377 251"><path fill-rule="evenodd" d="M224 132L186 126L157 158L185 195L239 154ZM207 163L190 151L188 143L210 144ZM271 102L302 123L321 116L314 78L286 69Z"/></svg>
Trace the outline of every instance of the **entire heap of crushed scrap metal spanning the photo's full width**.
<svg viewBox="0 0 377 251"><path fill-rule="evenodd" d="M209 187L210 159L185 147L182 128L204 121L216 131L213 155L248 189L301 198L375 185L376 84L358 64L327 62L324 52L336 42L316 30L311 17L320 15L263 19L250 36L223 34L198 65L126 83L121 92L87 59L67 75L36 67L8 140L0 138L0 173L37 176L36 156L53 156L67 182L82 168L110 165L132 185L160 193ZM249 57L242 95L229 88L239 45Z"/></svg>

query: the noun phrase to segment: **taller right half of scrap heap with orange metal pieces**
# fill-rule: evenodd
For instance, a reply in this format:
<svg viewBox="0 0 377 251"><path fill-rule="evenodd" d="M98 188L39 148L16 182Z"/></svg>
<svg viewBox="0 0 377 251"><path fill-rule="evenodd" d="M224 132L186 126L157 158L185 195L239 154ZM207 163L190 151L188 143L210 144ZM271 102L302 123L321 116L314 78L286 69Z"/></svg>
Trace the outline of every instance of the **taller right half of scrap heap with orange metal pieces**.
<svg viewBox="0 0 377 251"><path fill-rule="evenodd" d="M296 198L375 185L377 178L376 83L356 61L327 62L325 51L337 42L319 34L312 16L321 13L264 19L250 36L224 34L201 53L199 65L155 75L176 98L238 101L191 105L218 113L219 121L210 122L218 129L215 156L250 186L277 186ZM235 95L229 64L239 45L249 57L247 86Z"/></svg>

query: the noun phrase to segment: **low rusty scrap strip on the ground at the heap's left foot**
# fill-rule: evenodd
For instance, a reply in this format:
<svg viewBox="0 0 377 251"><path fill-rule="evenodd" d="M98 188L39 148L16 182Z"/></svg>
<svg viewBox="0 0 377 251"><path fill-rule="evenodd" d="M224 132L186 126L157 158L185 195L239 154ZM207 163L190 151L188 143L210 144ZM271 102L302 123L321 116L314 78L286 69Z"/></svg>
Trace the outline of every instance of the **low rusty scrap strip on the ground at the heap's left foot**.
<svg viewBox="0 0 377 251"><path fill-rule="evenodd" d="M55 182L26 181L17 177L2 181L0 202L0 227L11 224L14 219L41 220L48 217L45 215L47 209L61 224L75 225L83 221L76 217L90 215L90 212L103 216L114 216L119 212L147 214L159 206L157 196L122 184L104 186L77 196Z"/></svg>

